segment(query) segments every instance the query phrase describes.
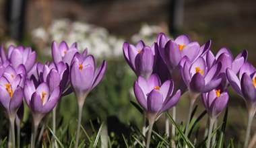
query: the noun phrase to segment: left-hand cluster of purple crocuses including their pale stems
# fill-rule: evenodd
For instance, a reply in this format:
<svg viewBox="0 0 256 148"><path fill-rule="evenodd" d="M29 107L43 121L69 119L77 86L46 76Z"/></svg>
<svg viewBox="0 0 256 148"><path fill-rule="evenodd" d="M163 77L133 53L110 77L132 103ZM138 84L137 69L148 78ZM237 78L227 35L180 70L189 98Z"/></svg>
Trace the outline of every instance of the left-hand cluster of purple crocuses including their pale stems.
<svg viewBox="0 0 256 148"><path fill-rule="evenodd" d="M70 47L65 41L52 44L53 62L45 64L36 63L36 52L30 47L9 46L7 54L3 45L0 48L0 102L9 117L11 129L11 147L15 147L15 128L22 121L25 98L28 108L32 113L33 127L31 135L31 147L35 147L36 133L42 118L54 111L61 96L75 92L79 108L79 120L81 122L82 106L88 93L98 85L106 71L106 61L96 69L96 63L92 55L87 54L87 49L79 54L77 44ZM71 83L71 86L69 85ZM22 108L20 108L22 106ZM17 114L20 108L19 114ZM53 131L55 132L55 118L53 112ZM78 145L79 126L77 126ZM18 143L19 145L19 143ZM55 144L53 145L55 146Z"/></svg>

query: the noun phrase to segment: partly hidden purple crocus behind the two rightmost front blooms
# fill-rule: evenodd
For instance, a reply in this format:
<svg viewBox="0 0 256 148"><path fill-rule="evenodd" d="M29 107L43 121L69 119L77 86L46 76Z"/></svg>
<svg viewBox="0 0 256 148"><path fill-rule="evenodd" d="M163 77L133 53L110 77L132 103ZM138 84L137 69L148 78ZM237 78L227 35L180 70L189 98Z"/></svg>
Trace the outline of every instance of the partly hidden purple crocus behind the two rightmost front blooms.
<svg viewBox="0 0 256 148"><path fill-rule="evenodd" d="M228 87L228 81L226 79L226 69L230 68L234 73L238 73L241 69L243 63L247 61L248 52L247 50L243 50L243 52L239 53L236 58L233 58L232 52L228 48L221 48L216 57L214 54L209 51L206 56L206 64L207 67L212 67L212 65L220 62L222 63L222 68L220 69L219 77L222 78L222 85L226 89Z"/></svg>

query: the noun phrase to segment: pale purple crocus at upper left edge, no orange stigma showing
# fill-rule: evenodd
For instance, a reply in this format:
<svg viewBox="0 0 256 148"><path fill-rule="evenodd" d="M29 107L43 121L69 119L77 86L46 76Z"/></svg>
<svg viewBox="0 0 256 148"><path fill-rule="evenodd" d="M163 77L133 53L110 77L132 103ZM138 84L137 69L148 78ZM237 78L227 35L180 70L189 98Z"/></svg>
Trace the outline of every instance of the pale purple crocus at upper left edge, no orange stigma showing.
<svg viewBox="0 0 256 148"><path fill-rule="evenodd" d="M32 51L32 48L30 47L15 47L11 45L8 47L7 55L5 55L3 48L1 48L0 53L2 63L9 61L14 69L18 68L20 65L24 65L26 71L28 72L30 69L32 69L34 63L36 62L36 52Z"/></svg>

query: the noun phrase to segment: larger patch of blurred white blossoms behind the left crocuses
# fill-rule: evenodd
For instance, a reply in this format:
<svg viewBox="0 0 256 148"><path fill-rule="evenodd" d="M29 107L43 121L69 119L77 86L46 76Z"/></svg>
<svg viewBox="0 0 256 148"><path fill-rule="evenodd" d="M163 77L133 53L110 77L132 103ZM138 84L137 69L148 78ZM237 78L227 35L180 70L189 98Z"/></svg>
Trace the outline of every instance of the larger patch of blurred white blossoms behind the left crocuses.
<svg viewBox="0 0 256 148"><path fill-rule="evenodd" d="M88 48L88 53L97 58L115 58L123 55L124 40L110 35L105 28L92 24L63 19L53 21L48 28L39 27L32 31L32 41L36 46L40 45L37 48L46 55L51 56L53 40L65 40L69 45L77 42L79 51Z"/></svg>

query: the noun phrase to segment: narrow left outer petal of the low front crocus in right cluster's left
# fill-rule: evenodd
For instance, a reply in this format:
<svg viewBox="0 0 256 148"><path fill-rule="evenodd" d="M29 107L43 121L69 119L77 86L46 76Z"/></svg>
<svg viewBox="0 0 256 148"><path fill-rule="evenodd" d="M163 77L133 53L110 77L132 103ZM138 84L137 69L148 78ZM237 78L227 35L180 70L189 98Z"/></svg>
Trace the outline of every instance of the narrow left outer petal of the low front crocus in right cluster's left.
<svg viewBox="0 0 256 148"><path fill-rule="evenodd" d="M133 91L137 99L137 102L139 102L139 104L142 106L142 108L144 108L144 110L148 110L146 94L144 94L145 92L143 92L141 87L139 87L137 81L135 81L134 83Z"/></svg>

